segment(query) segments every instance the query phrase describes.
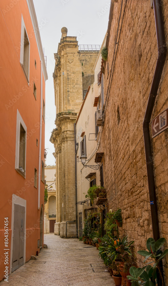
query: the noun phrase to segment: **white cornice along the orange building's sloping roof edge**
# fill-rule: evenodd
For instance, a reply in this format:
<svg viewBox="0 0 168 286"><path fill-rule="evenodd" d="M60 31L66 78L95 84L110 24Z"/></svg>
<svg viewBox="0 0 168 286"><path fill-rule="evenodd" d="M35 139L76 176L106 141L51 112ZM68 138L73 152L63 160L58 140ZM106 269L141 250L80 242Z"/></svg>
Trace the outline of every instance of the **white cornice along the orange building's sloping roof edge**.
<svg viewBox="0 0 168 286"><path fill-rule="evenodd" d="M38 51L39 51L40 60L43 62L43 74L44 74L44 79L46 81L46 80L48 80L48 74L47 74L47 69L46 69L46 64L45 64L45 59L44 59L44 53L43 53L43 47L42 47L42 44L41 44L41 37L40 37L37 17L36 17L36 14L35 14L33 0L27 0L27 6L29 8L29 13L30 13L31 22L32 22L32 25L33 25L35 39L36 39L36 42L37 42L37 47L38 47Z"/></svg>

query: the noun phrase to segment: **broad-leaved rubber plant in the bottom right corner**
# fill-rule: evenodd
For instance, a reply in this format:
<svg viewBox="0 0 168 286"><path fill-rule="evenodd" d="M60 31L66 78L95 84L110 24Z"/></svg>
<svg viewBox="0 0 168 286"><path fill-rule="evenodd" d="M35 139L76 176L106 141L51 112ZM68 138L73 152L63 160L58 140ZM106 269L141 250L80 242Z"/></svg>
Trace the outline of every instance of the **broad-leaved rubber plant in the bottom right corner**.
<svg viewBox="0 0 168 286"><path fill-rule="evenodd" d="M159 261L161 261L168 253L168 249L165 249L164 252L161 251L161 247L164 245L165 242L166 240L163 237L158 239L157 241L150 237L147 240L148 251L138 251L140 255L145 257L144 262L147 261L147 259L149 258L152 258L153 261L146 263L147 265L143 268L136 268L134 266L130 268L130 275L128 275L127 278L131 280L132 286L155 286L157 284L157 274L160 275L162 279L162 285L164 285L161 271L157 265ZM149 265L151 263L153 263L153 266ZM139 284L139 279L143 281L141 282L141 284Z"/></svg>

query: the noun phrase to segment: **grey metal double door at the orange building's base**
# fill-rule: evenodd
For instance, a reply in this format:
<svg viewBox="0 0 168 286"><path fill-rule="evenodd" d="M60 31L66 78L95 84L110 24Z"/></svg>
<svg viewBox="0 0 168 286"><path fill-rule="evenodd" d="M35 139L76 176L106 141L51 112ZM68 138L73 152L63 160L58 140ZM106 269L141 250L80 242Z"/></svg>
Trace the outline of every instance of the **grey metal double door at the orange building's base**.
<svg viewBox="0 0 168 286"><path fill-rule="evenodd" d="M24 263L25 207L14 204L12 272Z"/></svg>

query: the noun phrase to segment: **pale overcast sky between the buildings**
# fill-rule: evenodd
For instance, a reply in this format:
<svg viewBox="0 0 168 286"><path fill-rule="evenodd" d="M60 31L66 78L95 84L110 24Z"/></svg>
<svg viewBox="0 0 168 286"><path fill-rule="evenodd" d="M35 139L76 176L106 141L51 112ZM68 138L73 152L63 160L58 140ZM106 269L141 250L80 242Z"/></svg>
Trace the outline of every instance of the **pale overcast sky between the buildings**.
<svg viewBox="0 0 168 286"><path fill-rule="evenodd" d="M56 107L54 102L54 53L57 53L61 28L67 27L69 36L77 36L79 44L101 45L108 26L110 0L33 0L44 55L47 56L46 81L46 139L49 148L47 165L55 165L54 145L49 139L56 128Z"/></svg>

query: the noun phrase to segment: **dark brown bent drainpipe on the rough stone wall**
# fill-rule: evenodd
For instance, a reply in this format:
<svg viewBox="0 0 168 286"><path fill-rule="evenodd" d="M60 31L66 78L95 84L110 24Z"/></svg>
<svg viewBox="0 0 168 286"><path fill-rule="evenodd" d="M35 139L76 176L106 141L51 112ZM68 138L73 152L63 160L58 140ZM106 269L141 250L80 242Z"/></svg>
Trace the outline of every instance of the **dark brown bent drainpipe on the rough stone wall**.
<svg viewBox="0 0 168 286"><path fill-rule="evenodd" d="M155 241L157 241L160 238L160 231L159 231L159 218L158 218L158 210L157 210L155 177L154 177L149 124L151 121L153 107L155 104L155 99L157 96L157 91L159 88L159 84L160 84L160 80L161 80L161 76L163 72L163 67L164 67L165 60L166 60L167 48L166 48L166 41L165 41L162 5L161 5L160 0L153 0L153 8L154 8L156 35L157 35L158 59L156 63L151 91L149 94L147 108L146 108L145 117L143 121L143 136L144 136L145 157L146 157L146 165L147 165L149 198L150 198L150 205L151 205L153 238L155 239ZM163 275L163 265L161 264L160 264L160 267L161 267L160 270ZM162 284L161 277L159 277L158 279L158 286L159 285L164 285L164 282Z"/></svg>

